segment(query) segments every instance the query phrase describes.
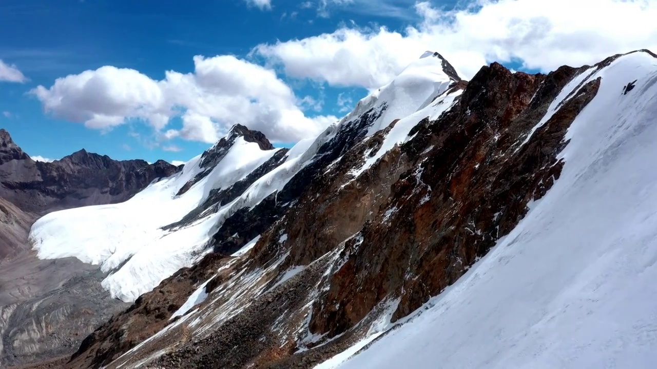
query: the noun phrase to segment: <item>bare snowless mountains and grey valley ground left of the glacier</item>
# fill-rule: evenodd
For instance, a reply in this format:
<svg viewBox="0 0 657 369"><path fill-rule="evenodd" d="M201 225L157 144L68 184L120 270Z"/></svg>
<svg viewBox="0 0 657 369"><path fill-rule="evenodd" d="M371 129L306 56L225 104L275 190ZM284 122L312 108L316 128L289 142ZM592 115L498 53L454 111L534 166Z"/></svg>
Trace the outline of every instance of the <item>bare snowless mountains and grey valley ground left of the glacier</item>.
<svg viewBox="0 0 657 369"><path fill-rule="evenodd" d="M0 129L0 366L70 353L124 307L102 290L106 273L96 267L37 259L28 242L32 223L51 211L122 202L178 170L85 150L34 162Z"/></svg>

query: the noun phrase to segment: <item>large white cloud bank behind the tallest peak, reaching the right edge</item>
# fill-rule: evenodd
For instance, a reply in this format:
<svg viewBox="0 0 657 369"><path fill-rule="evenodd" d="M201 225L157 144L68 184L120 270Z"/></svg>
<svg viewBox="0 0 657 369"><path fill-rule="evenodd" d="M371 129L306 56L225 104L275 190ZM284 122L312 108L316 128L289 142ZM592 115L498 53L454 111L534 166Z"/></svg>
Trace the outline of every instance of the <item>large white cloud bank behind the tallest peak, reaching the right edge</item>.
<svg viewBox="0 0 657 369"><path fill-rule="evenodd" d="M469 78L492 61L520 60L549 72L657 49L657 2L650 0L478 0L454 11L423 1L415 11L420 21L403 32L345 26L253 53L289 76L376 89L426 50L442 53Z"/></svg>

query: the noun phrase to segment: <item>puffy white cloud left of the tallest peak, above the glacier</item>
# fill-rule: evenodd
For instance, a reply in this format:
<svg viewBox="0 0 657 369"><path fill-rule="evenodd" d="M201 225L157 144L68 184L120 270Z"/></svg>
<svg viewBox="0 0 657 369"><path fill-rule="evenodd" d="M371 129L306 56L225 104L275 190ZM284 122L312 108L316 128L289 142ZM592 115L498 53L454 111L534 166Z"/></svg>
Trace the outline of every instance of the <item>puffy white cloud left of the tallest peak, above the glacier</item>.
<svg viewBox="0 0 657 369"><path fill-rule="evenodd" d="M273 141L317 135L335 117L307 118L304 99L273 70L235 56L194 56L194 72L166 72L154 80L127 68L103 66L58 78L31 91L46 112L58 118L109 130L127 121L145 121L158 137L212 143L235 123L262 131ZM180 129L166 129L180 117Z"/></svg>

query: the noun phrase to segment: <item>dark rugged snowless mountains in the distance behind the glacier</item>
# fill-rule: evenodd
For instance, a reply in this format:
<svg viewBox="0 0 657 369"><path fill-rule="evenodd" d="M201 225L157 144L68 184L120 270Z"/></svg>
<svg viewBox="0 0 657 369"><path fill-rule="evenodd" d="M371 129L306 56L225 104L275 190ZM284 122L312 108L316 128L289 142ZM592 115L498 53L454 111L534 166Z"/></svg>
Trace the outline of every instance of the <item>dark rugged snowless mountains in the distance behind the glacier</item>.
<svg viewBox="0 0 657 369"><path fill-rule="evenodd" d="M175 171L175 166L162 160L117 162L84 149L52 163L35 162L0 129L0 198L17 207L21 214L14 217L27 223L59 209L125 201L154 179ZM0 237L12 234L11 242L0 246L0 259L25 247L29 225L22 224L0 223L1 228L7 227L0 230Z"/></svg>

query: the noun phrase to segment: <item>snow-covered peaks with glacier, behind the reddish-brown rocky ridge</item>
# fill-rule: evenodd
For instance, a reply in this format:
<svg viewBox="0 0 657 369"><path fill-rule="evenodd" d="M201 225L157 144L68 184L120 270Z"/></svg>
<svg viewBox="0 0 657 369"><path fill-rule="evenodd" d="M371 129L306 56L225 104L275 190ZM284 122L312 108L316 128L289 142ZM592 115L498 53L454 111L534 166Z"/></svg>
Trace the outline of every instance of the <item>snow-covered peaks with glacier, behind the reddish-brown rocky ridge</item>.
<svg viewBox="0 0 657 369"><path fill-rule="evenodd" d="M440 114L459 95L451 94L449 103L440 108L430 106L455 83L442 71L443 62L440 54L425 53L389 85L363 98L354 112L314 142L299 142L289 151L275 150L264 137L264 144L257 142L252 136L258 133L237 125L210 150L185 163L181 173L152 183L121 204L49 213L32 227L30 239L43 259L77 257L101 265L102 271L112 272L102 282L112 297L134 301L211 251L208 241L225 219L281 191L294 175L317 159L321 146L337 133L367 137L394 119L415 114L399 123L394 135L386 139L384 148L389 150L403 142L424 116ZM453 76L458 78L455 72ZM369 119L362 121L363 114ZM352 128L355 122L359 126ZM350 137L342 146L354 143ZM368 158L357 171L363 171L384 153L379 150L378 156ZM327 154L328 150L319 156ZM275 160L269 162L272 158ZM240 188L241 193L233 198L221 196L254 172L260 177L251 178Z"/></svg>

